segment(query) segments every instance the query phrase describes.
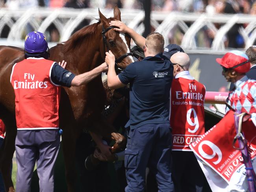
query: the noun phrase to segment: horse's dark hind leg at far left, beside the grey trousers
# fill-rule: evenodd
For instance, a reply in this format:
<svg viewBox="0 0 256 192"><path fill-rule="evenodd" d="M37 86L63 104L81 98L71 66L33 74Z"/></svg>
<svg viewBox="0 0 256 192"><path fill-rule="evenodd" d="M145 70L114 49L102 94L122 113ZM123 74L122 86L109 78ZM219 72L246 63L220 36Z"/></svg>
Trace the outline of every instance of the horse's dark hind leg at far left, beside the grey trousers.
<svg viewBox="0 0 256 192"><path fill-rule="evenodd" d="M10 115L8 119L5 119L4 121L6 126L6 137L4 139L4 146L3 146L3 155L1 157L1 172L4 179L4 184L6 187L6 191L8 192L14 192L14 186L13 181L11 180L11 163L13 158L13 153L15 151L15 137L17 134L17 128L16 128L16 120L13 115Z"/></svg>

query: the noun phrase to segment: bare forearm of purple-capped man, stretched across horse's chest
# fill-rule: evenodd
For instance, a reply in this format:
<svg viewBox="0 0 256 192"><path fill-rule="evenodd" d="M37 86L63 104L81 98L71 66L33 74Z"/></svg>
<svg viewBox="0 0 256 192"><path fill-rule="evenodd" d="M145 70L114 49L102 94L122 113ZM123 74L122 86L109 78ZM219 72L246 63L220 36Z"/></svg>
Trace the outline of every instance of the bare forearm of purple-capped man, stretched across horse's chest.
<svg viewBox="0 0 256 192"><path fill-rule="evenodd" d="M88 83L89 81L96 78L96 76L100 75L102 72L106 70L108 70L108 66L105 62L91 71L75 76L74 79L72 79L71 81L71 85L72 86L84 85L85 83Z"/></svg>

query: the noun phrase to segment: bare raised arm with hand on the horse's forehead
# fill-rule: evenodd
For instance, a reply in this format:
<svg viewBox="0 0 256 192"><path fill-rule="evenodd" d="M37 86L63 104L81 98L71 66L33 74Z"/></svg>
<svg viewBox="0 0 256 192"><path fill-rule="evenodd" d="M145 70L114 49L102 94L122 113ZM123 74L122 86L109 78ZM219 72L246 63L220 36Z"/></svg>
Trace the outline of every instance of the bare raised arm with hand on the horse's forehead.
<svg viewBox="0 0 256 192"><path fill-rule="evenodd" d="M134 40L135 44L143 49L146 39L141 35L139 35L139 33L134 31L132 28L129 28L128 26L126 26L126 24L124 24L119 20L111 21L109 25L118 27L118 28L114 28L115 31L119 31L121 33L128 33Z"/></svg>

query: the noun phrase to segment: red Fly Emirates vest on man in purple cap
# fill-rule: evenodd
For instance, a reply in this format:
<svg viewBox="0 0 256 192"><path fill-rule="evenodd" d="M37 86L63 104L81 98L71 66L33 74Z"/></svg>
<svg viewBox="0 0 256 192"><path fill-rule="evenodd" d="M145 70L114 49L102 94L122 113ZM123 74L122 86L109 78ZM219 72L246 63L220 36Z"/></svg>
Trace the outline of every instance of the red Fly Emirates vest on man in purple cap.
<svg viewBox="0 0 256 192"><path fill-rule="evenodd" d="M59 128L59 89L51 82L53 61L28 58L13 65L18 130Z"/></svg>

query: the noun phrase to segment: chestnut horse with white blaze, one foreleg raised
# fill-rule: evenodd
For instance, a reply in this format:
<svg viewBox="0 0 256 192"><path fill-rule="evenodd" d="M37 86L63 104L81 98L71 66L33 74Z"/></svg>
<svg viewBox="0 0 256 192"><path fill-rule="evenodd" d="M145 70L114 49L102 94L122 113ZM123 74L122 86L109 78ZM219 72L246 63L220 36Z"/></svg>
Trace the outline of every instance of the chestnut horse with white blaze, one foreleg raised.
<svg viewBox="0 0 256 192"><path fill-rule="evenodd" d="M114 18L106 18L99 11L97 23L82 28L70 39L50 49L50 60L67 61L66 69L74 74L92 70L104 62L105 50L111 50L119 68L133 62L130 53L130 37L109 27L111 20L121 20L117 6ZM24 50L11 46L0 46L0 119L6 125L6 138L0 149L0 169L7 191L15 191L10 175L11 159L15 150L17 133L15 120L15 94L10 83L12 66L24 59ZM106 101L101 76L80 87L64 87L59 104L59 127L63 129L62 142L65 159L67 188L75 190L75 145L83 128L116 141L115 150L125 146L125 139L101 117ZM38 109L40 110L40 109Z"/></svg>

